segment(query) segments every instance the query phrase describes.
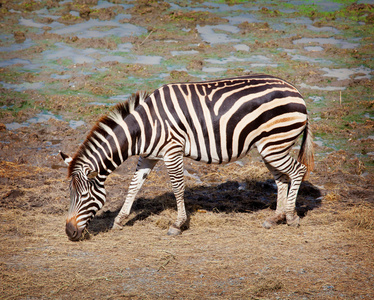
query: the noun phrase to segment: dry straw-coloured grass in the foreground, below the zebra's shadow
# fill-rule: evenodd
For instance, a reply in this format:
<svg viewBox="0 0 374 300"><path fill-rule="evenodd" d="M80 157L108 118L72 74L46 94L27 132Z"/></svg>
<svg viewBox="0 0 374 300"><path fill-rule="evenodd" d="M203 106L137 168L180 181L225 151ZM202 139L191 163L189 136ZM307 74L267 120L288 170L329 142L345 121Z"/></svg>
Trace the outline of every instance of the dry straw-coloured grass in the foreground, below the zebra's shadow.
<svg viewBox="0 0 374 300"><path fill-rule="evenodd" d="M360 212L367 215L364 208ZM0 215L1 298L373 295L368 287L372 229L349 230L343 215L331 218L331 212L316 211L303 219L299 229L279 226L266 231L260 220L270 213L196 212L190 229L173 238L160 225L160 219L175 217L167 210L122 231L101 232L72 243L63 232L63 216L8 210ZM315 219L322 221L314 224Z"/></svg>

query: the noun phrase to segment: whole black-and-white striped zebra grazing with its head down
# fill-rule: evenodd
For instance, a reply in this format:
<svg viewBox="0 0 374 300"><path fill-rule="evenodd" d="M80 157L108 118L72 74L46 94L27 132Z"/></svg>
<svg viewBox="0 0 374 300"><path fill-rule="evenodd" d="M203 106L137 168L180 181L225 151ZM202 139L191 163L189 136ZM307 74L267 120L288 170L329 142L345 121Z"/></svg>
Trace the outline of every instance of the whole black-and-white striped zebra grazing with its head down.
<svg viewBox="0 0 374 300"><path fill-rule="evenodd" d="M289 152L303 133L298 160ZM181 233L184 206L183 157L229 163L256 147L278 187L277 209L263 226L286 220L297 226L297 192L313 167L313 142L305 102L295 87L268 75L167 84L148 95L138 92L101 118L69 164L71 203L66 233L78 240L104 205L104 182L123 161L139 155L126 201L113 228L130 214L147 175L163 160L177 201L169 235Z"/></svg>

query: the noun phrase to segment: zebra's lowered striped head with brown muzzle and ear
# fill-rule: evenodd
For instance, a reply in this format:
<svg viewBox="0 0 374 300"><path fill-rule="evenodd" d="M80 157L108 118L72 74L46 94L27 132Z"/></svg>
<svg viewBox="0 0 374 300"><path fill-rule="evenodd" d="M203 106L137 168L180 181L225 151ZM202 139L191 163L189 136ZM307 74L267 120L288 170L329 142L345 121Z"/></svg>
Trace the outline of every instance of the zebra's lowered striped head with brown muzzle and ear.
<svg viewBox="0 0 374 300"><path fill-rule="evenodd" d="M62 152L61 156L65 163L70 163L69 156ZM106 199L105 179L106 176L101 176L98 172L93 172L83 166L71 173L70 206L65 228L70 240L80 240L88 223L103 207Z"/></svg>

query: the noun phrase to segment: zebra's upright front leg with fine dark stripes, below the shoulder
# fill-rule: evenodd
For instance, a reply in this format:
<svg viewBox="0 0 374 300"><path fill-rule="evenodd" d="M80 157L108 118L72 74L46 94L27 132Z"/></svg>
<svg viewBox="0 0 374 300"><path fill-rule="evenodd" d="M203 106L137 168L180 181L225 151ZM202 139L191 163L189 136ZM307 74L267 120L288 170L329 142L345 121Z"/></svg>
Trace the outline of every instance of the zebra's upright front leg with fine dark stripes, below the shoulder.
<svg viewBox="0 0 374 300"><path fill-rule="evenodd" d="M177 201L178 210L177 220L170 226L168 235L179 235L182 233L181 226L187 221L186 208L184 206L183 154L181 151L173 152L165 156L164 160Z"/></svg>

